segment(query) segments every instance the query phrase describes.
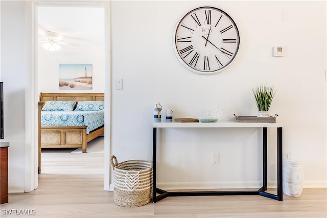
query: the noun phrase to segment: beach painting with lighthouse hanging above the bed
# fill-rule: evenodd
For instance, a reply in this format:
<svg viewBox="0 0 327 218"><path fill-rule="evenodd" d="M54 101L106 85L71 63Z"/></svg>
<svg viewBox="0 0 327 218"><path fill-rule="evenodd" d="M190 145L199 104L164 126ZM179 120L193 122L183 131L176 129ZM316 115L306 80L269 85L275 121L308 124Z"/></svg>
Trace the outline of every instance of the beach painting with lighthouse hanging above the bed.
<svg viewBox="0 0 327 218"><path fill-rule="evenodd" d="M92 64L59 64L59 89L92 89Z"/></svg>

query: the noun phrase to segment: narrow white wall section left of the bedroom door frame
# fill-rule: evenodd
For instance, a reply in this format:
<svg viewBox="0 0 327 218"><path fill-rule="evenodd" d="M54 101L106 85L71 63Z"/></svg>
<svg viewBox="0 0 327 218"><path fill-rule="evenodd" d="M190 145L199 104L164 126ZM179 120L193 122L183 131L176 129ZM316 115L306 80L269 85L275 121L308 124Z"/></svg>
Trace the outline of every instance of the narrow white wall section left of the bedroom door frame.
<svg viewBox="0 0 327 218"><path fill-rule="evenodd" d="M24 3L1 1L1 81L4 82L5 129L2 141L10 142L10 192L24 192L25 188L25 89L28 74L25 55Z"/></svg>

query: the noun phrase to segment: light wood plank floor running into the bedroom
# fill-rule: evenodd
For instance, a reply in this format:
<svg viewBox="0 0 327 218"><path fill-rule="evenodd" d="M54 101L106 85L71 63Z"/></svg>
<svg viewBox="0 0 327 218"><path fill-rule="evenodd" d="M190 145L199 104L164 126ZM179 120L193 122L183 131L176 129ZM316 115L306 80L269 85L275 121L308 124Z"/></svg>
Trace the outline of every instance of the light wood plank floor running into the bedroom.
<svg viewBox="0 0 327 218"><path fill-rule="evenodd" d="M126 208L104 191L103 153L42 154L39 187L11 193L1 217L327 217L326 189L304 189L298 198L278 202L262 196L168 197L156 204ZM69 165L69 166L68 166ZM30 215L8 214L25 210Z"/></svg>

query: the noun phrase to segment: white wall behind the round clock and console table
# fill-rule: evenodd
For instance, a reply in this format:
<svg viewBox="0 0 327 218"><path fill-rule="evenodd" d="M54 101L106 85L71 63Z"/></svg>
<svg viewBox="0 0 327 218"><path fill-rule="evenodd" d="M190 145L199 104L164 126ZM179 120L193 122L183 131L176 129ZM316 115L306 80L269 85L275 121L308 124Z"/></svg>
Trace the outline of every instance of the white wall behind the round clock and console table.
<svg viewBox="0 0 327 218"><path fill-rule="evenodd" d="M200 6L223 9L240 31L226 70L201 76L185 69L172 47L173 29ZM310 8L310 10L308 10ZM288 21L282 21L286 12ZM326 3L310 1L113 1L111 153L118 161L151 159L153 107L174 117L203 116L218 104L223 120L256 115L251 88L275 87L270 114L284 124L284 152L301 162L306 187L326 187ZM273 46L286 56L272 57ZM275 130L268 130L268 180L276 181ZM261 131L165 130L159 133L157 183L165 188L261 186ZM212 165L212 152L220 164Z"/></svg>

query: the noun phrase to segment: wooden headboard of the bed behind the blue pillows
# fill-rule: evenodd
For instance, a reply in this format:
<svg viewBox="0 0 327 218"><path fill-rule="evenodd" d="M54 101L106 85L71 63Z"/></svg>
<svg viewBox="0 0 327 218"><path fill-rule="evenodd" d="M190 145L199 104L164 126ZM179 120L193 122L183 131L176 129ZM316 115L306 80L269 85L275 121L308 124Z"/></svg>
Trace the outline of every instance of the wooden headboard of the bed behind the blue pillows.
<svg viewBox="0 0 327 218"><path fill-rule="evenodd" d="M46 101L104 101L104 93L43 93L40 102Z"/></svg>

